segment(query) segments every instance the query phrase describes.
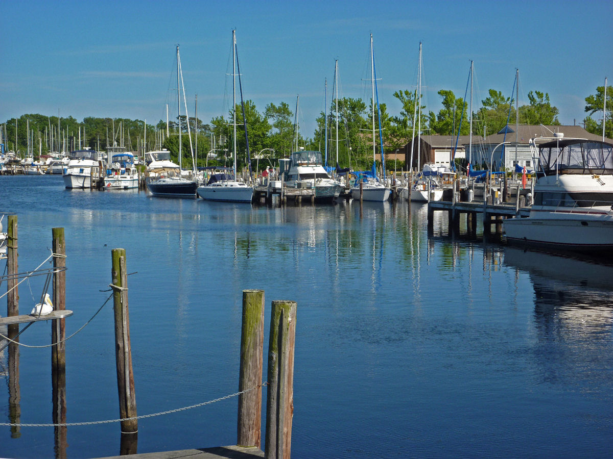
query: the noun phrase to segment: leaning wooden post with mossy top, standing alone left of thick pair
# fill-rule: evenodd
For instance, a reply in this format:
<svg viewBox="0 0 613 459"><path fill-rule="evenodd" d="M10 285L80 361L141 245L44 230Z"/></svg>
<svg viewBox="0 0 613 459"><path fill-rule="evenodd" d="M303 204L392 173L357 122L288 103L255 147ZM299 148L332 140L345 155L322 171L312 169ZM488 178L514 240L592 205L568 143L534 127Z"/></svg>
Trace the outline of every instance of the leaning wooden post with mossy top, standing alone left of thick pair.
<svg viewBox="0 0 613 459"><path fill-rule="evenodd" d="M132 372L132 348L130 344L130 317L128 310L128 274L126 269L126 250L113 248L112 289L113 313L115 315L115 359L117 367L117 390L119 393L119 411L121 419L136 417L136 397L134 394L134 373ZM136 453L136 438L139 421L128 419L121 421L121 433L131 434L131 441L121 438L121 452ZM133 444L132 444L133 443ZM134 449L132 450L132 446Z"/></svg>

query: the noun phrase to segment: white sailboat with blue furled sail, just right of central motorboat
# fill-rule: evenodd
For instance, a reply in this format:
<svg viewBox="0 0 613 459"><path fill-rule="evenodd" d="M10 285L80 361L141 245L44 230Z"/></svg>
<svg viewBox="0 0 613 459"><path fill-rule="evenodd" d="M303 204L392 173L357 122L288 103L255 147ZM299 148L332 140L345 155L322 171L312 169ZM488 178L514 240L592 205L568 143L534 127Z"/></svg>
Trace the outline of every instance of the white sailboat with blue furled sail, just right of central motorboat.
<svg viewBox="0 0 613 459"><path fill-rule="evenodd" d="M351 197L354 199L360 199L360 188L361 188L361 198L363 201L377 201L384 202L387 201L390 195L390 188L386 185L379 182L379 179L376 176L376 136L375 136L375 87L376 87L376 78L375 78L375 53L373 52L373 34L370 34L370 65L371 65L371 74L372 74L372 89L373 89L373 98L372 98L372 106L373 106L373 166L370 171L364 171L359 174L356 182L351 187ZM377 95L378 101L378 95ZM377 107L379 103L377 102ZM383 153L383 136L381 134L381 112L379 111L379 140L381 141L381 160L384 160ZM360 187L360 182L362 186Z"/></svg>

